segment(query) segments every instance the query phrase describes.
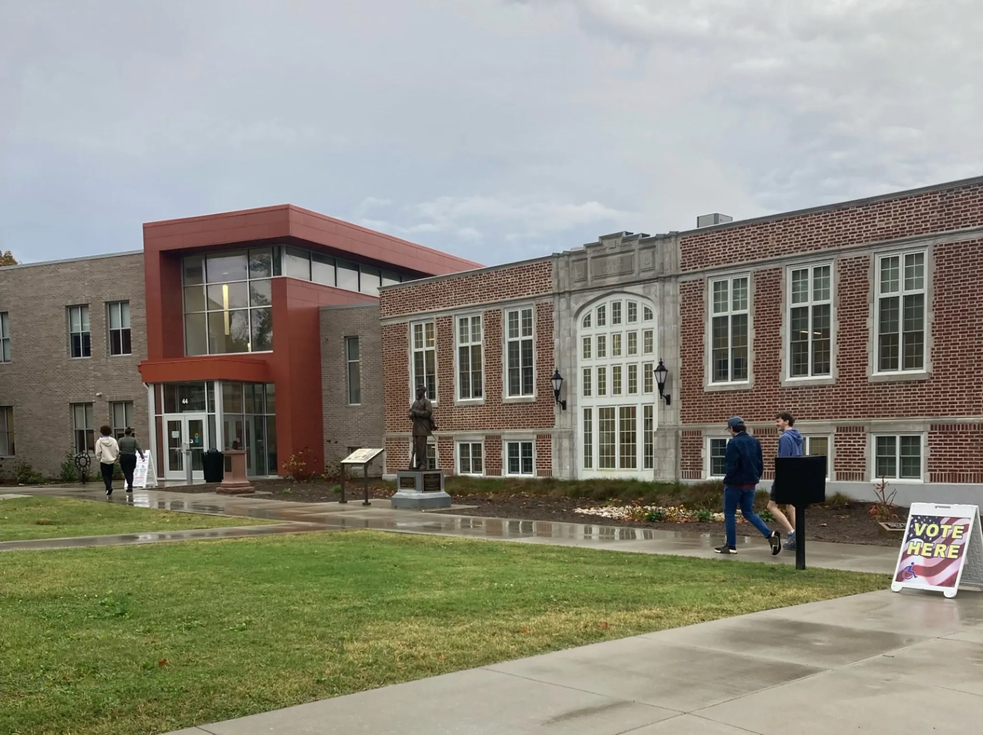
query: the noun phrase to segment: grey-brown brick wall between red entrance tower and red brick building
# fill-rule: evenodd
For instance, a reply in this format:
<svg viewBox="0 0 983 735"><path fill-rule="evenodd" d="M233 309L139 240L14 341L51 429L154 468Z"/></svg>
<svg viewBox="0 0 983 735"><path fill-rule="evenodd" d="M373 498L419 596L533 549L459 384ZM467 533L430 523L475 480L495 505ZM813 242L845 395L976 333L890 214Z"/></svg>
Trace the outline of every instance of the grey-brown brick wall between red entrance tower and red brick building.
<svg viewBox="0 0 983 735"><path fill-rule="evenodd" d="M359 338L362 402L348 403L345 339ZM320 310L321 415L324 461L344 458L350 447L382 447L382 337L378 305ZM370 466L380 475L383 459Z"/></svg>

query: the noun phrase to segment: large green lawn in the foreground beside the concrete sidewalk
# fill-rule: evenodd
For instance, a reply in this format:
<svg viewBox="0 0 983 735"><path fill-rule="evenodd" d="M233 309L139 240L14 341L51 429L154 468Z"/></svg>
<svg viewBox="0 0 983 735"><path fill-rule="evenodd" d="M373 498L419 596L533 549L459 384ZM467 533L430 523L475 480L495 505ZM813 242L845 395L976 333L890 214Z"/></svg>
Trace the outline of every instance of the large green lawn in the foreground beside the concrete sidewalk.
<svg viewBox="0 0 983 735"><path fill-rule="evenodd" d="M888 583L376 532L7 552L0 732L166 732Z"/></svg>

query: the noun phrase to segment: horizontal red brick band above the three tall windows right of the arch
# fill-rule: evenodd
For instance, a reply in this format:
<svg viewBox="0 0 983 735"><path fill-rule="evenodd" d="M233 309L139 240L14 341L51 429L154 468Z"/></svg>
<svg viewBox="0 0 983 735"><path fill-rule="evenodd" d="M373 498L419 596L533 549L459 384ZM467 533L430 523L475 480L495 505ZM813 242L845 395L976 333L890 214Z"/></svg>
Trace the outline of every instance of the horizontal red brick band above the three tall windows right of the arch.
<svg viewBox="0 0 983 735"><path fill-rule="evenodd" d="M978 225L983 225L983 184L974 182L683 234L679 249L685 272Z"/></svg>

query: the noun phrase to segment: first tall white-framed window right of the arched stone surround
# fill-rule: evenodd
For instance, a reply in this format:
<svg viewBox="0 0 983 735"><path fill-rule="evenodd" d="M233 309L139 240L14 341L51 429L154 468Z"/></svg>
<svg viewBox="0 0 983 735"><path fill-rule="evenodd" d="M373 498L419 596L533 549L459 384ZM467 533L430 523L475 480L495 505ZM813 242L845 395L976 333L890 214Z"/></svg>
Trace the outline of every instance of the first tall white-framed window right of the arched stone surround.
<svg viewBox="0 0 983 735"><path fill-rule="evenodd" d="M749 283L746 275L718 278L710 283L711 382L748 380Z"/></svg>

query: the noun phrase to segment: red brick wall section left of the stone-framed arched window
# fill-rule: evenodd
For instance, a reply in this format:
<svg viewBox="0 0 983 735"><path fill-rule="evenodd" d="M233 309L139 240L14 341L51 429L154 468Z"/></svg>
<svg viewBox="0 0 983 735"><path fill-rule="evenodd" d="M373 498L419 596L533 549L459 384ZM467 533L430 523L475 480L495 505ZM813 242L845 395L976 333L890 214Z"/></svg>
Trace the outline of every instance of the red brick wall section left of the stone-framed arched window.
<svg viewBox="0 0 983 735"><path fill-rule="evenodd" d="M528 431L537 436L536 474L552 474L551 429L555 421L550 378L553 361L553 305L542 300L551 293L551 260L520 263L481 273L441 278L429 283L408 284L383 292L380 310L383 316L405 315L407 318L382 325L382 365L385 404L384 428L387 444L392 441L405 446L412 428L407 419L412 396L410 388L410 322L432 318L435 330L437 400L434 402L434 421L437 424L437 455L440 467L447 473L455 470L455 436L484 436L485 473L502 473L502 431ZM402 292L410 292L405 295ZM535 310L536 394L533 399L508 400L504 397L503 334L504 310L494 302L528 297ZM540 301L535 301L540 297ZM455 374L454 315L429 315L417 310L426 304L428 309L453 309L475 313L481 309L484 329L484 401L459 403L455 401L458 386ZM411 311L397 311L406 309ZM403 438L403 437L407 438ZM393 472L394 465L387 465Z"/></svg>

